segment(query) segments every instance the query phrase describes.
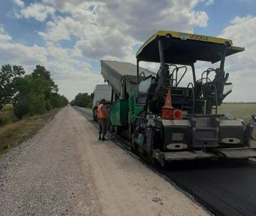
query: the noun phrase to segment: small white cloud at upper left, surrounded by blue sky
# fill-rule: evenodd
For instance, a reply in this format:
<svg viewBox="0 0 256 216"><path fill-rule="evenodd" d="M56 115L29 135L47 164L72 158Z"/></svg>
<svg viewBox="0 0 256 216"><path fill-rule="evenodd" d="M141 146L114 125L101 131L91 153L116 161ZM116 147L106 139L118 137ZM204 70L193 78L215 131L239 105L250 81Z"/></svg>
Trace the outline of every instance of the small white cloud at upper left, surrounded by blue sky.
<svg viewBox="0 0 256 216"><path fill-rule="evenodd" d="M25 17L25 19L34 18L38 21L44 21L49 14L54 14L55 9L47 6L42 5L41 3L34 3L27 8L21 9L21 15Z"/></svg>

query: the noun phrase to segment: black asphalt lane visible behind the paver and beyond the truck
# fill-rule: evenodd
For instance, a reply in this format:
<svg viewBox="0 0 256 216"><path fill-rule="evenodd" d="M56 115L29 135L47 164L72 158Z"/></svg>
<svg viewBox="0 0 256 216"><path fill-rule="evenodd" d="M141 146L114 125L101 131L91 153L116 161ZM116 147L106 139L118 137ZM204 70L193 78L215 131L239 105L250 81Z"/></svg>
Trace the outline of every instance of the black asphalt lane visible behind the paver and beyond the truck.
<svg viewBox="0 0 256 216"><path fill-rule="evenodd" d="M89 109L74 108L92 119ZM154 168L215 215L256 215L255 162L198 160Z"/></svg>

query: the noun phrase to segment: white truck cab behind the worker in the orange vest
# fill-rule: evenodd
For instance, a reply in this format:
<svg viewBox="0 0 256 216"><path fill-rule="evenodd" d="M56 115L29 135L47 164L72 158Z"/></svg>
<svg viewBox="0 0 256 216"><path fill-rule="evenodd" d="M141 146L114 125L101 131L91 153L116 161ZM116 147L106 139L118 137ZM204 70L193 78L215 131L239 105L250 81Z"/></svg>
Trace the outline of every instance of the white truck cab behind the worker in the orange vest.
<svg viewBox="0 0 256 216"><path fill-rule="evenodd" d="M107 84L96 85L93 92L93 120L97 120L97 107L102 99L107 101L107 107L111 107L112 89Z"/></svg>

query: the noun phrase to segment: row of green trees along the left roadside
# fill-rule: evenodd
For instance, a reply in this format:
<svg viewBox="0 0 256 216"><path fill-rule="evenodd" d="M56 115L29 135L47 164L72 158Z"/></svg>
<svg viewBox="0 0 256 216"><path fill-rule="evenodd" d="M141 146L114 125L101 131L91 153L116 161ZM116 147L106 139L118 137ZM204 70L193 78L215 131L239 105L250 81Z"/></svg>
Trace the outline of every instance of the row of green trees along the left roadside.
<svg viewBox="0 0 256 216"><path fill-rule="evenodd" d="M0 108L5 104L12 104L21 119L63 107L68 100L58 94L58 86L45 67L36 65L31 74L25 74L22 66L5 64L0 71Z"/></svg>

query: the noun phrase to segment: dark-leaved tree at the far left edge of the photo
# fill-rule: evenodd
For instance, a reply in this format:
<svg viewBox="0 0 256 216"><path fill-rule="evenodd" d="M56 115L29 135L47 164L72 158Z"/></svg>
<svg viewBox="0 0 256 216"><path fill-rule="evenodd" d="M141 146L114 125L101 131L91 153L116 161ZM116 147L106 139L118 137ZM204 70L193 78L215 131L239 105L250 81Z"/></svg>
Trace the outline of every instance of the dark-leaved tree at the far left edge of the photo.
<svg viewBox="0 0 256 216"><path fill-rule="evenodd" d="M25 74L24 68L19 65L2 65L0 71L0 104L12 103L13 96L17 93L16 80Z"/></svg>

